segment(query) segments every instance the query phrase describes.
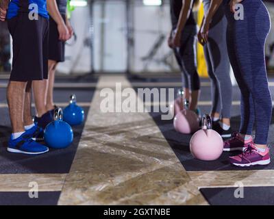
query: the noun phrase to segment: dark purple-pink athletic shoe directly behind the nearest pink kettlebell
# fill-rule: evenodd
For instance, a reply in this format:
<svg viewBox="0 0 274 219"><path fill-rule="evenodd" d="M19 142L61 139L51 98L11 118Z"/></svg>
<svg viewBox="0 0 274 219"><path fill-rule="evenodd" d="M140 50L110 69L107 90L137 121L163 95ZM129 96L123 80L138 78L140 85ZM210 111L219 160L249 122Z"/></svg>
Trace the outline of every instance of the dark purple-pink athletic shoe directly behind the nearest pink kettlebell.
<svg viewBox="0 0 274 219"><path fill-rule="evenodd" d="M253 138L244 140L240 133L233 132L232 138L223 142L223 151L244 151L249 144L253 144Z"/></svg>

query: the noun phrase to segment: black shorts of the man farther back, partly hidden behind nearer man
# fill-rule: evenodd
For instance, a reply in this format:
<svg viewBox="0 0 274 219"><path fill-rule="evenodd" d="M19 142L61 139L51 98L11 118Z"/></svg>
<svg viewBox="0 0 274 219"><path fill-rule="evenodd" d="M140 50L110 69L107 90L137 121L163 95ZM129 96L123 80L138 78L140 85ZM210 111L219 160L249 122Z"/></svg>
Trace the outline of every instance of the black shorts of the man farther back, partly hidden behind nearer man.
<svg viewBox="0 0 274 219"><path fill-rule="evenodd" d="M66 15L61 14L64 21L66 21ZM49 18L49 60L56 62L64 62L64 47L65 42L59 40L59 32L57 23L53 18Z"/></svg>

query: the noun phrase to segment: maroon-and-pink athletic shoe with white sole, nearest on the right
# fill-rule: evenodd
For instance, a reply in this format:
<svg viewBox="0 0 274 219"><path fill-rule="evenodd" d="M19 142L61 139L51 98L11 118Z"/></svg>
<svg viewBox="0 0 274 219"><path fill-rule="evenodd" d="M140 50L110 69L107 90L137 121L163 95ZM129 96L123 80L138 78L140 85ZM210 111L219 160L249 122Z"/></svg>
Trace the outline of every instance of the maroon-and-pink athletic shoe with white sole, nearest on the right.
<svg viewBox="0 0 274 219"><path fill-rule="evenodd" d="M242 154L229 157L229 160L235 166L267 165L270 164L269 148L262 153L251 143Z"/></svg>

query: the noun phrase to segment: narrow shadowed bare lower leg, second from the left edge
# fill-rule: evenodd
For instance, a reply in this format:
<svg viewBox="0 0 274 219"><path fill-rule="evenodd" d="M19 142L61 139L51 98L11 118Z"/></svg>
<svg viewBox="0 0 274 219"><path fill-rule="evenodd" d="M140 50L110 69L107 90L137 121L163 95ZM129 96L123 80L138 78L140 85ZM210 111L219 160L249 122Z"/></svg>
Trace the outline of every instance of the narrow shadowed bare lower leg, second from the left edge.
<svg viewBox="0 0 274 219"><path fill-rule="evenodd" d="M32 120L32 81L28 81L25 88L23 121L25 126L34 123Z"/></svg>

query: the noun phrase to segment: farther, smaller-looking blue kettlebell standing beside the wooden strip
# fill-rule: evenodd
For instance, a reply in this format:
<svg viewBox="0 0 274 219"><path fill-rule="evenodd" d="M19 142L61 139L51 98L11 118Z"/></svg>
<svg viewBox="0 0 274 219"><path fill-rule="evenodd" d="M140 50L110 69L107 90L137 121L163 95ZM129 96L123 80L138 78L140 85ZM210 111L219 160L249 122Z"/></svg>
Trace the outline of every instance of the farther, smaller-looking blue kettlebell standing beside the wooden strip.
<svg viewBox="0 0 274 219"><path fill-rule="evenodd" d="M75 94L71 95L69 105L63 110L63 118L69 125L80 125L83 123L85 113L82 107L76 104Z"/></svg>

